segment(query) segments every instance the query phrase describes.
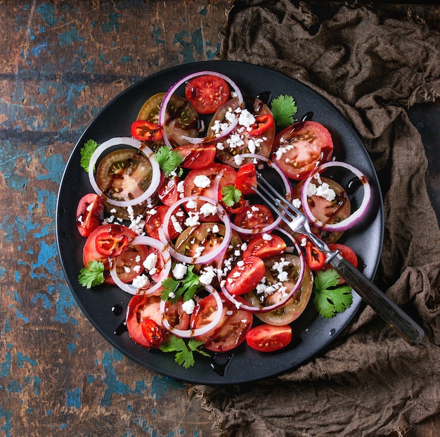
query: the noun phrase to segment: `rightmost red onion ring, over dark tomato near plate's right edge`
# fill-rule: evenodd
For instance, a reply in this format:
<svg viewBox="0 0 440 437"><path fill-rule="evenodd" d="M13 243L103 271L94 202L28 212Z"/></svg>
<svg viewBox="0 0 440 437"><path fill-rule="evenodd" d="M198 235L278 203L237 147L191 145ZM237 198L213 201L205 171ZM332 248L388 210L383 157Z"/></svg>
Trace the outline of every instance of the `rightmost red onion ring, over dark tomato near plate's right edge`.
<svg viewBox="0 0 440 437"><path fill-rule="evenodd" d="M359 208L353 214L349 215L349 217L338 223L323 223L321 222L321 220L318 220L312 214L311 209L309 208L309 202L307 201L307 197L308 197L307 191L311 180L317 173L321 174L321 172L323 172L323 170L325 170L328 167L343 167L349 170L358 177L358 179L361 181L363 185L363 199L361 205L359 205ZM368 205L370 204L370 199L371 199L371 188L365 175L363 175L363 173L353 165L343 163L340 161L330 161L329 163L325 163L317 167L316 170L311 172L309 177L307 177L304 180L304 185L302 186L302 191L301 191L302 209L304 210L304 214L306 215L306 217L309 219L309 222L313 224L313 226L316 226L319 229L323 229L324 231L329 231L329 232L347 231L347 229L354 227L354 225L360 222L364 217Z"/></svg>

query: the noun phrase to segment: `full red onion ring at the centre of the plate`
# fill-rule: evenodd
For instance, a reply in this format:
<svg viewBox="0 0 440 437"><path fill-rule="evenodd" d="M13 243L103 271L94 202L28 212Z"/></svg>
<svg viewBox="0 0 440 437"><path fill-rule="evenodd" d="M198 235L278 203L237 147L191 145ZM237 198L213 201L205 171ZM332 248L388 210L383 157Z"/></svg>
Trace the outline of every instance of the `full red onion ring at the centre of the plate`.
<svg viewBox="0 0 440 437"><path fill-rule="evenodd" d="M203 201L215 205L217 208L217 214L225 225L224 239L223 241L221 241L221 244L216 247L216 250L210 252L207 255L200 255L197 258L182 255L181 253L177 252L174 249L173 243L168 234L169 220L171 220L171 216L173 215L174 210L179 208L179 206L183 203L188 203L190 201ZM164 215L162 226L158 229L158 232L160 241L162 241L162 243L164 244L167 244L169 253L171 253L172 257L180 262L186 262L187 264L208 264L209 262L214 261L217 257L222 255L227 250L229 243L231 242L232 235L231 220L229 219L226 210L224 210L223 206L221 206L219 202L205 196L188 196L179 199L179 201L168 208L167 213L165 213Z"/></svg>

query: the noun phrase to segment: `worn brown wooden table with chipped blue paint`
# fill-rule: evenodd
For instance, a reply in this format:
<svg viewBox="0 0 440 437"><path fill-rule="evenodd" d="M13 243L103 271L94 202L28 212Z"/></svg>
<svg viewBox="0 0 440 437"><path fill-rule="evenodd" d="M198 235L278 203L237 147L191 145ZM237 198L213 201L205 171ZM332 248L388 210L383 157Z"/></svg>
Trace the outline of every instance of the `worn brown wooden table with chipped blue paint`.
<svg viewBox="0 0 440 437"><path fill-rule="evenodd" d="M231 1L0 2L0 436L219 434L185 384L93 329L60 267L55 212L67 158L98 111L145 76L213 58ZM440 28L439 6L411 8ZM410 109L440 217L439 115ZM406 435L439 427L427 419Z"/></svg>

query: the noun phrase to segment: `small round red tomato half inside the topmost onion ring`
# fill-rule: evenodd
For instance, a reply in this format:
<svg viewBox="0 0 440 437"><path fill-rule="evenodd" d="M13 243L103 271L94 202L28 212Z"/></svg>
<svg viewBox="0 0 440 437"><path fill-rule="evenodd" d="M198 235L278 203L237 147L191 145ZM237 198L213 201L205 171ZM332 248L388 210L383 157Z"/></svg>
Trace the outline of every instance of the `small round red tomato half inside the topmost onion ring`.
<svg viewBox="0 0 440 437"><path fill-rule="evenodd" d="M214 75L202 75L191 79L185 87L185 97L199 114L213 114L229 99L226 80Z"/></svg>

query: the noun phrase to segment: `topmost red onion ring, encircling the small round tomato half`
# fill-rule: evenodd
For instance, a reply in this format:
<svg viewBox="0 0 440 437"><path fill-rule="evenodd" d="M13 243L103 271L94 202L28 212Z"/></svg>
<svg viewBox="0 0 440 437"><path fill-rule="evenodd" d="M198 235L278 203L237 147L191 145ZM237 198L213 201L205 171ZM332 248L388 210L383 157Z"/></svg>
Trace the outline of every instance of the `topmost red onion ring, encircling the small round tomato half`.
<svg viewBox="0 0 440 437"><path fill-rule="evenodd" d="M220 77L223 80L226 80L226 82L229 82L229 84L231 84L231 86L233 87L234 91L237 93L237 98L238 98L238 102L240 103L240 106L242 105L243 96L241 94L241 91L238 88L237 84L235 84L235 82L233 82L233 80L231 80L230 77L228 77L226 75L222 75L221 73L216 72L216 71L199 71L199 72L195 72L190 75L187 75L185 77L182 77L181 80L178 80L164 95L164 99L162 100L162 103L160 105L159 119L157 121L157 123L159 125L161 125L163 127L165 125L165 115L167 113L167 106L168 106L169 100L172 98L172 95L174 94L176 89L178 89L181 86L181 84L187 82L188 80L193 79L193 77L198 77L198 76L203 76L203 75L214 75L216 77ZM196 137L196 138L183 136L182 138L191 144L208 143L208 142L214 141L216 139L218 140L220 138L226 137L226 135L230 134L233 131L233 129L235 128L235 126L237 126L237 124L238 124L238 120L234 120L234 122L232 122L231 125L228 125L228 127L226 129L224 129L224 131L222 131L219 136L208 135L207 137ZM173 147L172 144L169 142L166 129L163 129L163 132L164 132L164 134L162 136L162 140L164 141L164 143L167 146Z"/></svg>

